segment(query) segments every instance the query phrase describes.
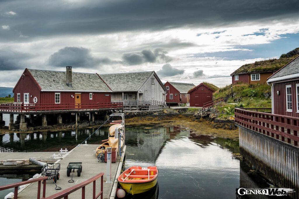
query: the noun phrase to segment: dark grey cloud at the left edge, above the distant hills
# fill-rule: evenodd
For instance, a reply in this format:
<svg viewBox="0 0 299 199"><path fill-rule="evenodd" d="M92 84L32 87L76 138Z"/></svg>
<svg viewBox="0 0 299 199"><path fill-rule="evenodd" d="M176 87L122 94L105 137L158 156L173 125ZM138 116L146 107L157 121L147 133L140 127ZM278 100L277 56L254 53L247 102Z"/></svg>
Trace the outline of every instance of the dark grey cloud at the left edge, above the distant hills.
<svg viewBox="0 0 299 199"><path fill-rule="evenodd" d="M26 61L32 58L28 53L22 53L11 49L0 49L0 71L14 71L24 69Z"/></svg>

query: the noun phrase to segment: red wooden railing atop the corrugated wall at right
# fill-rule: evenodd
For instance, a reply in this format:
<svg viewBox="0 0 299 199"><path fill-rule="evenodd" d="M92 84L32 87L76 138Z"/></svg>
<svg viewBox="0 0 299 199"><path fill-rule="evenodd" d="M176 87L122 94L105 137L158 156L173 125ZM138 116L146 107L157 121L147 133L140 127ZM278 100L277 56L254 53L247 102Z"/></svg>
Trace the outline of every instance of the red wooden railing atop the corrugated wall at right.
<svg viewBox="0 0 299 199"><path fill-rule="evenodd" d="M298 146L299 118L235 108L235 123ZM287 140L285 140L287 138Z"/></svg>

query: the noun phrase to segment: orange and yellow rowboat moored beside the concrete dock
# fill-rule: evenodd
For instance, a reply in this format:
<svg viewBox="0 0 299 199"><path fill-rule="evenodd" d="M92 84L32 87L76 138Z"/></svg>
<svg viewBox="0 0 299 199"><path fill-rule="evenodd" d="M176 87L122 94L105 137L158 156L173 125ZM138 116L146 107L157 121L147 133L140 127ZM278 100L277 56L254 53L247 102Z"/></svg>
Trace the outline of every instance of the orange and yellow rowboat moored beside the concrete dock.
<svg viewBox="0 0 299 199"><path fill-rule="evenodd" d="M149 191L157 184L158 168L156 166L131 166L118 176L121 188L132 195Z"/></svg>

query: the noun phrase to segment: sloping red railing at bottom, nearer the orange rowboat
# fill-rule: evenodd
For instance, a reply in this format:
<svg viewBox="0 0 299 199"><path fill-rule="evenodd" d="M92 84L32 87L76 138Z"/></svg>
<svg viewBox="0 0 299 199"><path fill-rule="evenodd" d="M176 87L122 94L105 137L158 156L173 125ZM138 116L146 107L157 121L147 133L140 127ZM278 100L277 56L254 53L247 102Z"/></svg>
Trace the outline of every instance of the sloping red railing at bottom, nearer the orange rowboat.
<svg viewBox="0 0 299 199"><path fill-rule="evenodd" d="M96 199L99 196L101 196L101 199L103 199L103 175L104 173L99 173L95 175L94 177L89 178L88 180L85 180L84 182L77 184L75 186L72 186L68 189L63 190L62 192L56 193L54 195L51 195L47 197L46 199L59 199L59 198L64 198L68 199L68 195L73 193L74 191L77 191L78 189L82 188L82 199L85 199L85 186L88 185L89 183L93 183L93 189L92 189L92 199ZM97 195L95 195L95 183L98 178L101 177L101 191Z"/></svg>

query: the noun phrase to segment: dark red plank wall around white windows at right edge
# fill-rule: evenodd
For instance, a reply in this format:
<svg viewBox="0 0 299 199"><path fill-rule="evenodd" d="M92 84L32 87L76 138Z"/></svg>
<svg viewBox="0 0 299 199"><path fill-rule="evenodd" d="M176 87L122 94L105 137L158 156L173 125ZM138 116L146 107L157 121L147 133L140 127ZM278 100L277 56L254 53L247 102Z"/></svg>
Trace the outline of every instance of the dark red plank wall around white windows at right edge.
<svg viewBox="0 0 299 199"><path fill-rule="evenodd" d="M299 117L297 113L296 106L296 84L299 83L299 80L274 83L273 85L273 100L274 100L274 114L278 115L287 115L292 117ZM292 86L292 112L286 111L286 85ZM277 91L280 92L280 95L277 95Z"/></svg>

